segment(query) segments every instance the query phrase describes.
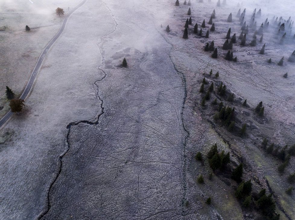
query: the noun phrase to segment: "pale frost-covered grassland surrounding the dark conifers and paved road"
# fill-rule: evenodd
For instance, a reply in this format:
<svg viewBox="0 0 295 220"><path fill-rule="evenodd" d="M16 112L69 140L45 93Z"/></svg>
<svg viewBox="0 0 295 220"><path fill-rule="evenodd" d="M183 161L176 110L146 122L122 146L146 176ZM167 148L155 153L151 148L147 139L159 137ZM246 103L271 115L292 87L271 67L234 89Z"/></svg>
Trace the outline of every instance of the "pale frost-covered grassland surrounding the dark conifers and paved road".
<svg viewBox="0 0 295 220"><path fill-rule="evenodd" d="M22 4L36 10L35 3ZM77 4L63 1L62 7ZM238 163L235 155L241 156L248 167L245 175L259 179L265 188L266 176L287 213L279 211L281 219L294 218L294 195L284 194L286 176L294 172L294 158L280 177L274 160L257 148L260 140L253 142L265 135L276 142L295 142L294 66L266 63L269 57L276 62L288 57L294 44L277 48L270 43L263 56L257 55L262 44L254 48L236 44L233 51L239 62L225 61L226 51L220 47L227 29L231 26L232 33L240 33L239 24L226 23L228 14L234 17L238 10L236 3L230 6L228 0L227 4L216 8L213 0L211 4L192 1L191 6L193 24L199 25L203 19L207 23L216 8L216 32L208 41L214 39L218 46L217 60L203 51L206 38L192 34L188 40L181 38L188 17L188 6L182 2L175 7L174 0L88 0L72 14L43 62L25 111L2 128L2 133L10 135L0 145L0 219L252 219L236 201L235 186L220 176L209 181L208 164L201 166L193 159L214 142L231 152L233 163ZM255 7L262 8L262 21L288 8L265 6L265 1L257 4L244 3L241 8L246 7L249 14ZM8 37L1 38L0 50L6 57L1 57L1 84L16 87L18 94L62 20L49 12L56 2L47 6L40 4L37 10L44 14L34 15L40 19L30 17L30 23L52 26L30 33L18 21L27 15L0 14L10 26L3 34ZM167 34L160 24L169 24L171 32ZM269 39L271 35L266 34L265 40ZM126 69L120 67L123 57L128 61ZM22 63L15 65L17 61ZM211 68L250 106L265 103L268 121L261 125L249 119L249 124L261 127L248 139L227 137L203 114L198 89L203 73ZM287 80L282 77L285 72ZM4 102L3 90L0 95ZM196 184L200 173L205 185ZM211 206L205 204L208 197L212 197ZM183 206L186 200L189 208Z"/></svg>

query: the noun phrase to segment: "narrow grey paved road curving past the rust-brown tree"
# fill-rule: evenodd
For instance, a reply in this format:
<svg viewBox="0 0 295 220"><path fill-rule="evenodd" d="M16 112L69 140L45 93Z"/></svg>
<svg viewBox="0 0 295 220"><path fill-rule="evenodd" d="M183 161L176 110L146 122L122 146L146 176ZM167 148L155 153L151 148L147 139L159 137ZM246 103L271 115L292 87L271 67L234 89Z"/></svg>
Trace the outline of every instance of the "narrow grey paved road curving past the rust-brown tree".
<svg viewBox="0 0 295 220"><path fill-rule="evenodd" d="M64 18L63 22L62 22L62 26L59 29L59 32L57 32L56 35L54 35L54 37L49 41L49 43L47 44L47 46L45 47L45 49L43 50L43 52L41 53L38 62L35 66L35 68L33 69L33 72L30 76L30 79L27 83L27 86L23 92L23 94L21 95L20 99L26 99L32 86L33 83L35 81L36 75L39 72L39 69L42 65L42 62L44 60L44 57L47 53L47 51L50 49L50 47L52 46L52 44L54 44L54 42L59 38L59 36L62 34L63 30L65 29L65 25L67 24L68 18L71 16L71 14L74 13L74 11L76 11L78 8L80 8L82 5L84 5L84 3L87 0L83 0L79 5L77 5L75 8L73 8ZM7 112L6 115L3 116L3 118L1 118L0 120L0 128L5 124L6 121L8 121L8 119L11 117L11 115L13 115L13 113L11 111Z"/></svg>

